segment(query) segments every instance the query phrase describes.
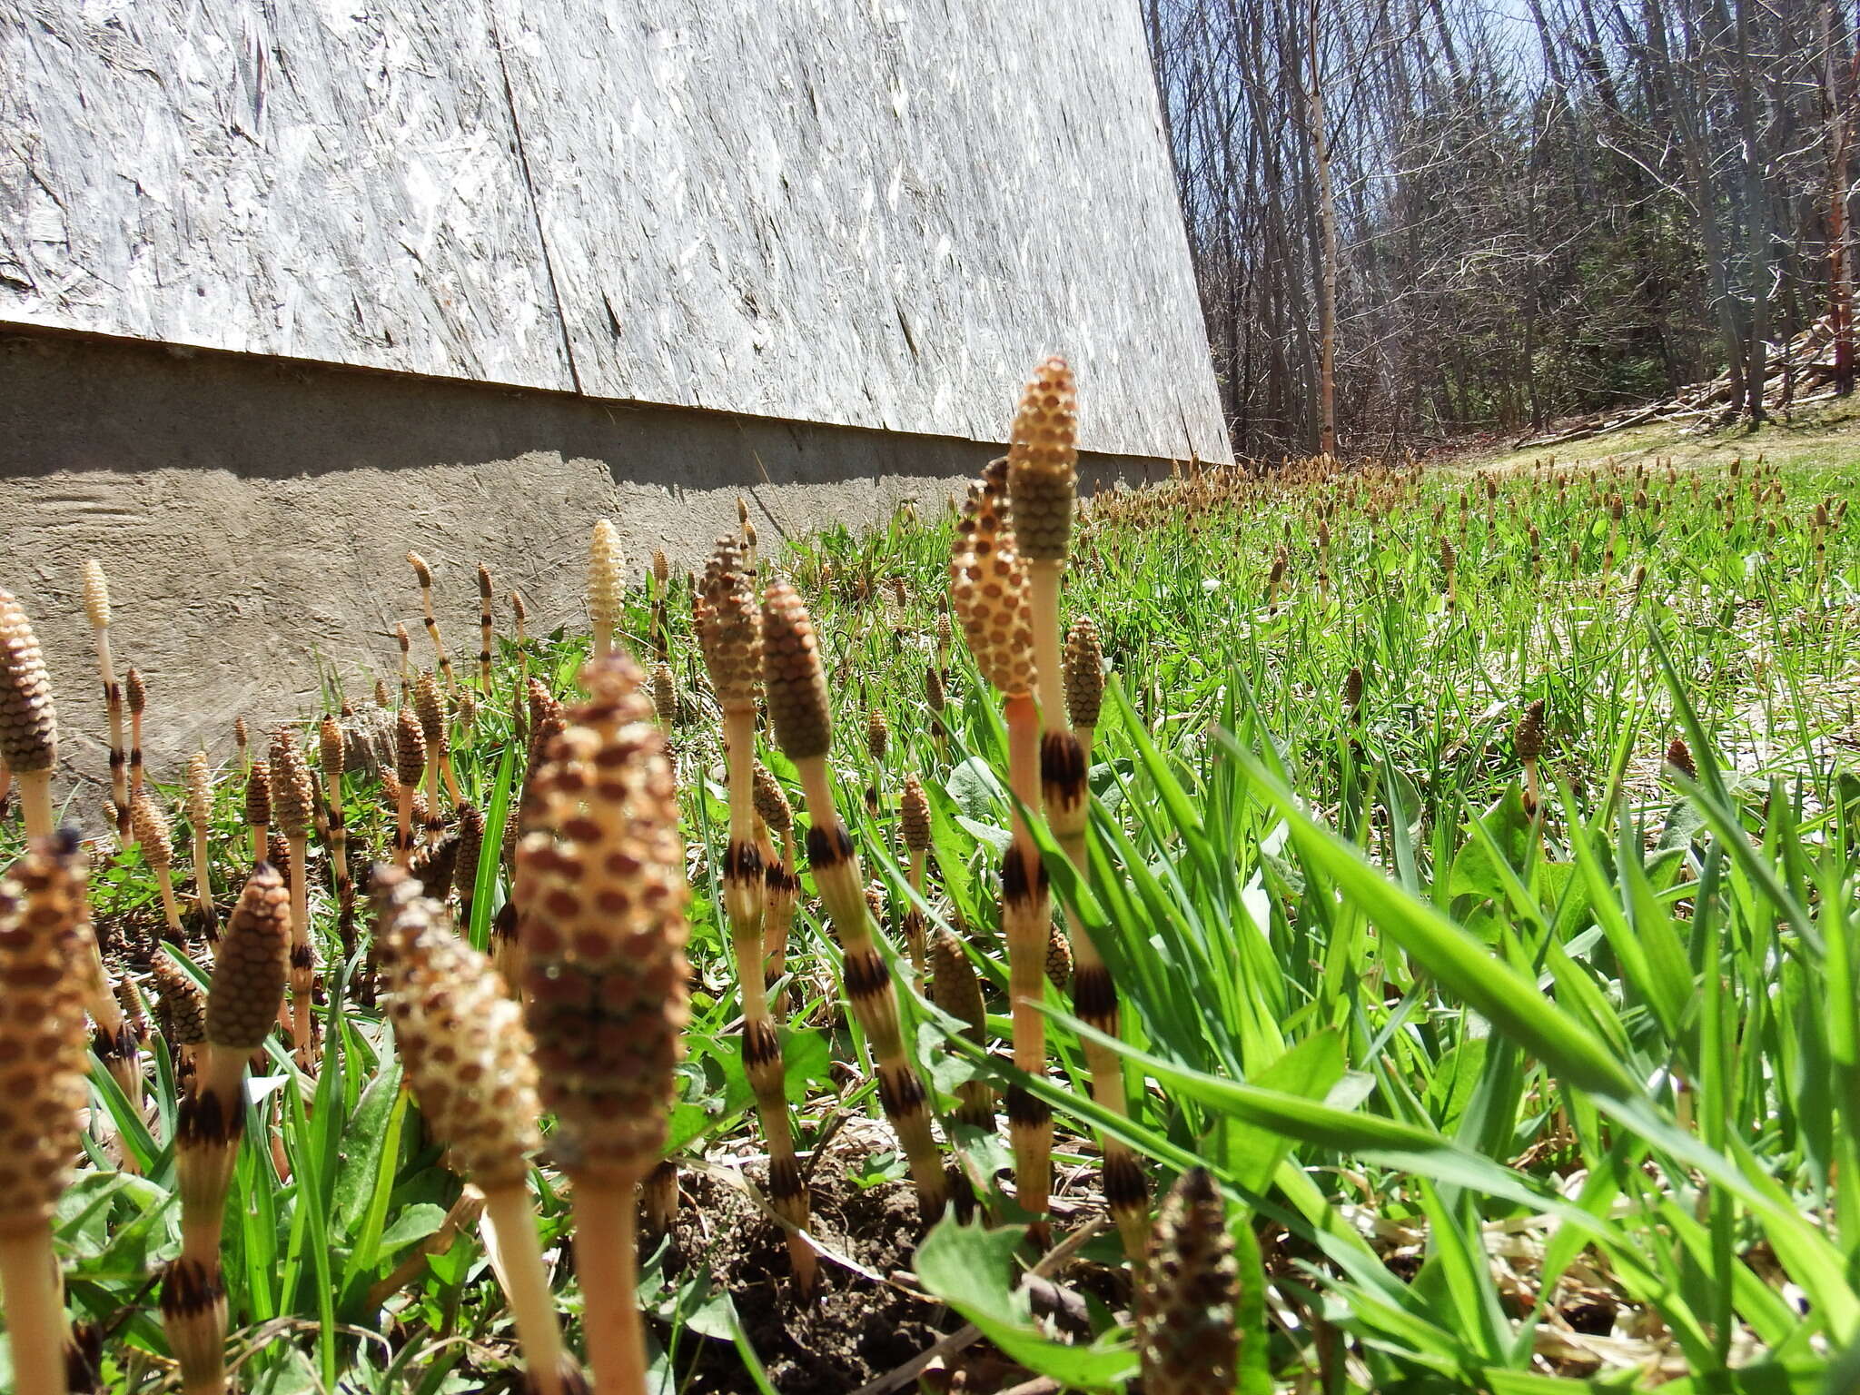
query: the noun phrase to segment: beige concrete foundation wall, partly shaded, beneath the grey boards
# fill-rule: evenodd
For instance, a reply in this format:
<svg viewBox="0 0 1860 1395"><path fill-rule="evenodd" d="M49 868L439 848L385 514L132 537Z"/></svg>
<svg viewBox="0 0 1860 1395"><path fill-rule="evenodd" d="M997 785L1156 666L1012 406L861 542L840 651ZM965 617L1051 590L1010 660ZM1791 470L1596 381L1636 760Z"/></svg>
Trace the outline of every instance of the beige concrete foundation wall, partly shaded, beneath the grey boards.
<svg viewBox="0 0 1860 1395"><path fill-rule="evenodd" d="M1017 383L1001 385L1006 420ZM750 498L764 549L835 521L932 513L999 446L512 391L67 335L0 337L0 588L20 597L58 686L61 753L106 774L82 569L108 575L119 668L149 683L149 768L320 711L320 673L363 694L417 658L409 547L433 565L454 662L478 651L474 569L523 591L534 632L584 625L588 532L614 519L629 567L698 562ZM1166 461L1090 456L1086 484ZM100 798L78 792L95 822ZM86 807L89 805L89 807Z"/></svg>

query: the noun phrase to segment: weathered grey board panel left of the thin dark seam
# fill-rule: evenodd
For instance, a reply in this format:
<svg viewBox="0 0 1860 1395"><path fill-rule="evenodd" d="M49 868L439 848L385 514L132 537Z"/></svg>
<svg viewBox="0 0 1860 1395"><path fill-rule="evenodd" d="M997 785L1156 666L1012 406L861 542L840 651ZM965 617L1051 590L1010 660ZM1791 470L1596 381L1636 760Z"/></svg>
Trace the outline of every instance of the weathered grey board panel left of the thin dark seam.
<svg viewBox="0 0 1860 1395"><path fill-rule="evenodd" d="M569 387L478 6L0 0L0 318Z"/></svg>

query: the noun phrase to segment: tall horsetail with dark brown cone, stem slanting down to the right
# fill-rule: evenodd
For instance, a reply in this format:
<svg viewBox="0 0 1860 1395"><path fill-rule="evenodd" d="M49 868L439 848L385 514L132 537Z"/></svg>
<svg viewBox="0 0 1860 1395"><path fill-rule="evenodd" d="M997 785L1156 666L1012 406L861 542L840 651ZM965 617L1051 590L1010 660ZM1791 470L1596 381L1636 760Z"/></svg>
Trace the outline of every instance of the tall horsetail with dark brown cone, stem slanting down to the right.
<svg viewBox="0 0 1860 1395"><path fill-rule="evenodd" d="M934 1220L949 1200L949 1183L930 1133L923 1081L904 1055L891 973L872 939L859 854L833 802L833 781L826 766L833 727L813 619L787 582L774 582L763 595L763 666L768 720L776 742L794 763L813 817L807 863L844 952L846 1001L878 1062L878 1099L898 1133L917 1187L917 1203L924 1218Z"/></svg>

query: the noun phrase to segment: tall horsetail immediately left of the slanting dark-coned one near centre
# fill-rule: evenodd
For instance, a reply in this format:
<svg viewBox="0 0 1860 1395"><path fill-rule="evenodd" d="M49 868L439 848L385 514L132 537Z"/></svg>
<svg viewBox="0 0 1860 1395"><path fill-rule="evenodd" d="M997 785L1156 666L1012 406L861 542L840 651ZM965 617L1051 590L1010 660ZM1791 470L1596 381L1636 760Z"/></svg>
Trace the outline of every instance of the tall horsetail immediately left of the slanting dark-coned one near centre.
<svg viewBox="0 0 1860 1395"><path fill-rule="evenodd" d="M733 538L720 538L703 575L705 623L698 632L705 668L724 709L724 753L729 770L729 844L724 854L724 904L742 991L742 1064L755 1090L755 1110L768 1142L770 1203L794 1229L807 1228L809 1196L789 1129L787 1066L768 1010L763 975L766 874L755 837L755 699L763 688L763 625L755 582ZM664 670L664 666L660 666ZM815 1282L815 1252L787 1235L796 1285Z"/></svg>

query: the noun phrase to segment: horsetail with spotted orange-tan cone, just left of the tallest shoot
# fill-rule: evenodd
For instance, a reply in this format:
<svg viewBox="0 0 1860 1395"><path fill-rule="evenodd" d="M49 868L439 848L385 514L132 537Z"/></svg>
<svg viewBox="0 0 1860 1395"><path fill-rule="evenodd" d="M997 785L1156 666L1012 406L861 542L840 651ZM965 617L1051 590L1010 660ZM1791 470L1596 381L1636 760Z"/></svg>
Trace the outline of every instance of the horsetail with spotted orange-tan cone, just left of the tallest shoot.
<svg viewBox="0 0 1860 1395"><path fill-rule="evenodd" d="M1040 707L1034 625L1027 573L1004 519L1006 461L993 461L969 487L956 525L949 580L956 619L982 677L1001 694L1008 727L1008 787L1027 809L1038 809ZM1064 703L1064 699L1060 699ZM1055 711L1060 711L1055 707ZM1045 958L1051 943L1047 872L1021 809L1014 809L1014 843L1001 863L1001 932L1008 943L1008 1003L1014 1021L1014 1064L1045 1075ZM1053 1110L1030 1090L1008 1092L1008 1136L1014 1144L1014 1187L1023 1211L1045 1216L1051 1194ZM1036 1222L1036 1239L1045 1222Z"/></svg>

